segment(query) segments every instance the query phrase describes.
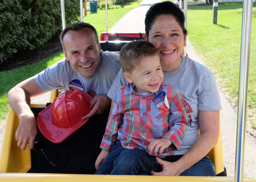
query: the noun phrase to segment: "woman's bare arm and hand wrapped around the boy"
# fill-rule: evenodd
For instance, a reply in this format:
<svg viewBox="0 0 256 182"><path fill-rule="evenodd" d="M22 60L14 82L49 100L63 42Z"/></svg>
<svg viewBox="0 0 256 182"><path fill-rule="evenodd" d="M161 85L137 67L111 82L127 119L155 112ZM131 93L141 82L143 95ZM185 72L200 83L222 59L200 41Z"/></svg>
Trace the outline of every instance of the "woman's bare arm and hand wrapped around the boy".
<svg viewBox="0 0 256 182"><path fill-rule="evenodd" d="M157 158L157 162L161 164L163 171L152 171L152 175L178 176L205 157L217 144L219 136L219 110L199 110L198 117L201 135L195 144L176 162L167 162Z"/></svg>

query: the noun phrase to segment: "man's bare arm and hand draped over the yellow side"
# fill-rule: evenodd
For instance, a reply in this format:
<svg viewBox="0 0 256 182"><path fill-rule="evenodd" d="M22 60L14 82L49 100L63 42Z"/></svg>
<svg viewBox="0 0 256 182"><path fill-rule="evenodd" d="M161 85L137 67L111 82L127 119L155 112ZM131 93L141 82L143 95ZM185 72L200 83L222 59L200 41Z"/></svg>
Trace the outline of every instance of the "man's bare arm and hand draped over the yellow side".
<svg viewBox="0 0 256 182"><path fill-rule="evenodd" d="M8 100L11 108L20 119L15 139L18 141L18 147L22 150L34 148L34 142L37 135L37 123L33 112L30 110L30 98L45 94L46 91L41 89L34 77L17 84L8 93Z"/></svg>

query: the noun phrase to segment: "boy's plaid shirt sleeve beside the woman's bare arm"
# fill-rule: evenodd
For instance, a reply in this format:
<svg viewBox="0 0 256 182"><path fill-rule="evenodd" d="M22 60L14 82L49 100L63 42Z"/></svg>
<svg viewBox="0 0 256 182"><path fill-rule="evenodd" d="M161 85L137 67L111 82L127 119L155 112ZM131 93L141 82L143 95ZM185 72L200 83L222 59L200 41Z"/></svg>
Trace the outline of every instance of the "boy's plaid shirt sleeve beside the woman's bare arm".
<svg viewBox="0 0 256 182"><path fill-rule="evenodd" d="M180 148L190 127L182 103L182 95L176 89L172 88L172 100L170 103L171 115L169 119L170 130L164 134L163 138L170 140L177 149Z"/></svg>

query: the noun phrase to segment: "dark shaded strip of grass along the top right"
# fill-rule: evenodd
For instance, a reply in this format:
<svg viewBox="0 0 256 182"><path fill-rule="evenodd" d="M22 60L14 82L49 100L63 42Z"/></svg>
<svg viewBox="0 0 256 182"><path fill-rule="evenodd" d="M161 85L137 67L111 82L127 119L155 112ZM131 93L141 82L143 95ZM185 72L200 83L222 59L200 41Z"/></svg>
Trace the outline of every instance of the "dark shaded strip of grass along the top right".
<svg viewBox="0 0 256 182"><path fill-rule="evenodd" d="M256 7L256 3L253 3L253 7ZM189 10L212 10L212 5L189 5ZM235 10L243 8L243 2L225 2L218 3L218 10Z"/></svg>

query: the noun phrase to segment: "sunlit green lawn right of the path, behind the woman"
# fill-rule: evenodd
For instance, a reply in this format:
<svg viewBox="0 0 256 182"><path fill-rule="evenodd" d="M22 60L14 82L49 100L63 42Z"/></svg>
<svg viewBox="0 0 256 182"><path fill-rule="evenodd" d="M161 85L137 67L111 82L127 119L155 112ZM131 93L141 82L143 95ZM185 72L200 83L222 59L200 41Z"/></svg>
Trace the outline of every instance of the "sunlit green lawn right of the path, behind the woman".
<svg viewBox="0 0 256 182"><path fill-rule="evenodd" d="M256 3L253 3L253 11ZM219 86L238 102L242 2L218 4L217 25L212 24L212 6L190 5L187 11L188 39L215 74ZM256 15L252 15L248 106L256 107Z"/></svg>

